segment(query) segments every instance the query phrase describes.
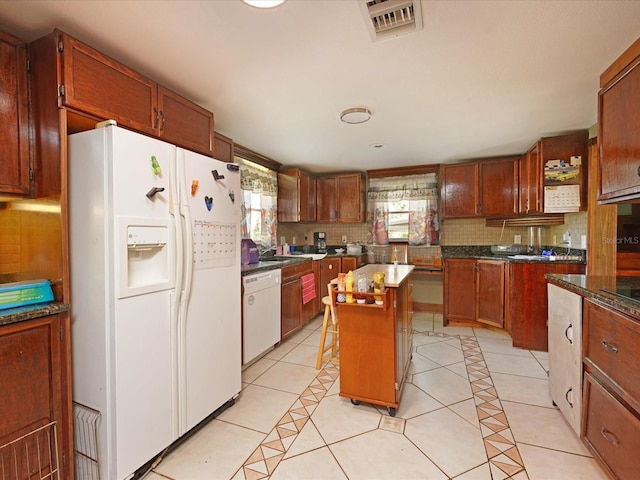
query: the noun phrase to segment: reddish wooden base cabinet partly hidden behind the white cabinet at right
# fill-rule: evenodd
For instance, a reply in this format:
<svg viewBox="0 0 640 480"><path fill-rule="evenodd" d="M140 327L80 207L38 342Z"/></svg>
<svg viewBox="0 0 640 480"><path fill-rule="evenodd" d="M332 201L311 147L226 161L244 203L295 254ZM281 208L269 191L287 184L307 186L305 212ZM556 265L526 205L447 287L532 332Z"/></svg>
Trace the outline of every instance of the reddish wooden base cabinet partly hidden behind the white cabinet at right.
<svg viewBox="0 0 640 480"><path fill-rule="evenodd" d="M547 273L584 273L576 263L510 262L507 285L509 324L514 347L549 350Z"/></svg>

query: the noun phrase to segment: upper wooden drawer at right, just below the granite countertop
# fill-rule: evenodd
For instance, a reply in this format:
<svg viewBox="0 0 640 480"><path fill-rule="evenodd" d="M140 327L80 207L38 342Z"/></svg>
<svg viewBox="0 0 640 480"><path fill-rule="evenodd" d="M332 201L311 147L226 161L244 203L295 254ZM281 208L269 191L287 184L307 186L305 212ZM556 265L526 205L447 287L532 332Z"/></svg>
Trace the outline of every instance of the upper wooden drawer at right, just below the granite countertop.
<svg viewBox="0 0 640 480"><path fill-rule="evenodd" d="M586 304L584 355L633 398L640 398L640 325L592 302Z"/></svg>

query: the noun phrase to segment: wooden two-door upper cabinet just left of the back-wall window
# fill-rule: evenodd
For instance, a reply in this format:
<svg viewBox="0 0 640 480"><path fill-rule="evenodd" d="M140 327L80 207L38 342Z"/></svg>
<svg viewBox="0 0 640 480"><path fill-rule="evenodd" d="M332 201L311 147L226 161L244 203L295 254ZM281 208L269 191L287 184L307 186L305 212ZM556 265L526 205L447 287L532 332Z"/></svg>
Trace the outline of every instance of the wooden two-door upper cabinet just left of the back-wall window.
<svg viewBox="0 0 640 480"><path fill-rule="evenodd" d="M364 222L365 187L362 173L317 179L318 222Z"/></svg>

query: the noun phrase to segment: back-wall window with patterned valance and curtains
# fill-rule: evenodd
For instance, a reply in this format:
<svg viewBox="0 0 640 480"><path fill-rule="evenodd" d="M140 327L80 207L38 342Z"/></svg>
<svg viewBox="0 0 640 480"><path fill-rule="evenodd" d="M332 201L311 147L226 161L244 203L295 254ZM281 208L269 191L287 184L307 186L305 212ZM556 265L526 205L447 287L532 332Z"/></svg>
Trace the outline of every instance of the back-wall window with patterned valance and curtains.
<svg viewBox="0 0 640 480"><path fill-rule="evenodd" d="M367 242L439 245L435 173L371 178L367 192Z"/></svg>

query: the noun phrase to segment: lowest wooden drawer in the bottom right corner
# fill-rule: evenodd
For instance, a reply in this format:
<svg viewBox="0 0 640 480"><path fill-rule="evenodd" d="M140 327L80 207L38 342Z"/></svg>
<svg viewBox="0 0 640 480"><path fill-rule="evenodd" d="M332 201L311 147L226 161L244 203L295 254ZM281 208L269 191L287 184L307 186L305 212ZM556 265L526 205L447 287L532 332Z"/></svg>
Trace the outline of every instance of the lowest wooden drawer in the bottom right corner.
<svg viewBox="0 0 640 480"><path fill-rule="evenodd" d="M590 374L585 375L584 436L614 478L638 478L640 421Z"/></svg>

